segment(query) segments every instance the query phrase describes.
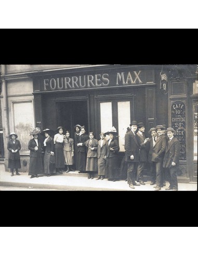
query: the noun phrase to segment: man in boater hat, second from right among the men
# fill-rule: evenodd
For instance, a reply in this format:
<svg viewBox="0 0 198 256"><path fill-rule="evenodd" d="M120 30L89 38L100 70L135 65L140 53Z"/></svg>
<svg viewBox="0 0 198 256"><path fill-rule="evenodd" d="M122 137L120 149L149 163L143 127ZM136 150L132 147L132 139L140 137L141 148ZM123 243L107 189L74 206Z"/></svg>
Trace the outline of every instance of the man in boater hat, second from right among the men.
<svg viewBox="0 0 198 256"><path fill-rule="evenodd" d="M156 169L156 186L155 191L161 190L161 187L163 187L163 160L164 160L164 154L166 150L166 137L162 133L162 131L165 130L162 125L156 126L157 131L157 140L153 147L153 153L152 153L152 159L151 161L154 162L155 169Z"/></svg>

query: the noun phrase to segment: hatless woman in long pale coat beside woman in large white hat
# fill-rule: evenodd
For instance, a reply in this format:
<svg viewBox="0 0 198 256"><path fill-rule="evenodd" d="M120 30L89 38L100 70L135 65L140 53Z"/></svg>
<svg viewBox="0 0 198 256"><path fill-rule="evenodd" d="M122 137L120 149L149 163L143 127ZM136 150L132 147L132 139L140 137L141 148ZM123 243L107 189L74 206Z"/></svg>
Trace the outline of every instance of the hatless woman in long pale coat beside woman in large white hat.
<svg viewBox="0 0 198 256"><path fill-rule="evenodd" d="M105 136L105 133L100 133L100 140L98 141L98 178L96 180L103 180L105 177L105 165L107 157L107 140L104 138Z"/></svg>

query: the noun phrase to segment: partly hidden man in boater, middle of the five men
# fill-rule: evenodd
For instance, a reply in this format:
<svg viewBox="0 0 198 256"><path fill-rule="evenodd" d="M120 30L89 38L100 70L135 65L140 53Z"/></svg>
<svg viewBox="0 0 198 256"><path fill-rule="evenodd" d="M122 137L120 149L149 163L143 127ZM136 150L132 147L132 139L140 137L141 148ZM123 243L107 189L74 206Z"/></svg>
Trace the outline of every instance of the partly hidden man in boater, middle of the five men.
<svg viewBox="0 0 198 256"><path fill-rule="evenodd" d="M149 151L148 154L148 162L150 163L150 171L151 171L151 184L150 185L154 185L156 184L156 166L154 164L154 162L152 161L152 155L153 155L153 148L155 146L155 143L157 141L157 132L156 132L156 128L153 127L150 129L149 134L151 134L151 138L147 141L147 148Z"/></svg>

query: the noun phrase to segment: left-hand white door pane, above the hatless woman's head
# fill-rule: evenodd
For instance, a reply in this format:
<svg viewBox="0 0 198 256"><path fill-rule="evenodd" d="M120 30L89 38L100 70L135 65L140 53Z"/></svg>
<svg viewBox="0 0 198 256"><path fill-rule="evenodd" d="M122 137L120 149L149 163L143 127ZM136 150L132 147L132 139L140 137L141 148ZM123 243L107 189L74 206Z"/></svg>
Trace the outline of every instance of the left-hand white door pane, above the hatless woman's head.
<svg viewBox="0 0 198 256"><path fill-rule="evenodd" d="M112 128L112 103L100 103L101 132L108 132Z"/></svg>

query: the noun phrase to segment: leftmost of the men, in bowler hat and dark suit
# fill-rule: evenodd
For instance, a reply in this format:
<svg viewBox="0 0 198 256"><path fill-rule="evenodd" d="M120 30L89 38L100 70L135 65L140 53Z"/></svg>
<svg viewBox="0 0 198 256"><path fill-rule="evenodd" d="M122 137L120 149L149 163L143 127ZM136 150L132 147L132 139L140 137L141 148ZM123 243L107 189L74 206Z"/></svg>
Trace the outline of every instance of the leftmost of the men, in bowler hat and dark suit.
<svg viewBox="0 0 198 256"><path fill-rule="evenodd" d="M125 134L125 161L128 162L127 182L130 188L135 188L134 186L140 186L140 184L135 182L135 173L138 167L141 146L138 135L135 133L137 122L131 122L130 126L131 130Z"/></svg>

